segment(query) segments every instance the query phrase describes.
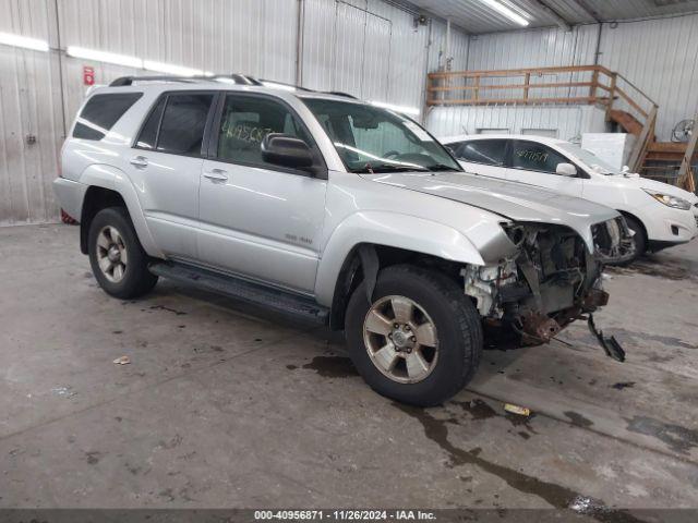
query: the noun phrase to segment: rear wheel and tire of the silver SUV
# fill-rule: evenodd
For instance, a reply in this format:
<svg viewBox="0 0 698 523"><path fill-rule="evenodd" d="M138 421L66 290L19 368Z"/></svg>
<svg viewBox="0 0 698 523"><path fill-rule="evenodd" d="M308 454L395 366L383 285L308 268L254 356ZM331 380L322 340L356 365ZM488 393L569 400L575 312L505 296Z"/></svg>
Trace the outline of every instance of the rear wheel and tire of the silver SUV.
<svg viewBox="0 0 698 523"><path fill-rule="evenodd" d="M97 212L87 236L89 265L107 294L122 300L139 297L157 283L148 257L139 242L129 212L108 207Z"/></svg>

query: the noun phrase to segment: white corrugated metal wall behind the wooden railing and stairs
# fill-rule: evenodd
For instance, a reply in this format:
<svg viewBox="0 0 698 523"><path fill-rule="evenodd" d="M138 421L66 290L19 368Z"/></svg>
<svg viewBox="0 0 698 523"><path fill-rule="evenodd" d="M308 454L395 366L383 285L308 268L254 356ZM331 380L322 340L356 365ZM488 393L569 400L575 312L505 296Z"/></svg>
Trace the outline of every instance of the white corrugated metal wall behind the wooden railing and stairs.
<svg viewBox="0 0 698 523"><path fill-rule="evenodd" d="M657 135L670 141L676 122L693 119L698 111L698 14L676 15L647 21L626 21L576 26L570 32L559 28L519 31L470 37L468 63L464 70L518 69L550 65L588 65L594 63L599 41L599 63L624 75L659 105ZM588 81L574 74L544 81ZM517 83L516 80L512 80ZM550 89L551 96L563 95ZM502 89L491 97L506 97ZM566 93L565 93L566 94ZM633 94L633 93L630 93ZM490 93L488 94L490 96ZM568 117L576 114L558 108L561 137L568 134ZM521 119L533 118L531 125L545 129L550 109L490 110L483 108L436 108L428 119L430 130L437 133L459 133L474 129L476 122L491 114L505 127L520 129ZM598 119L591 121L598 122ZM450 123L445 123L450 122ZM583 125L583 121L580 121ZM478 124L479 125L479 124ZM575 123L573 126L578 125ZM587 129L585 129L587 131ZM588 129L590 132L598 129Z"/></svg>

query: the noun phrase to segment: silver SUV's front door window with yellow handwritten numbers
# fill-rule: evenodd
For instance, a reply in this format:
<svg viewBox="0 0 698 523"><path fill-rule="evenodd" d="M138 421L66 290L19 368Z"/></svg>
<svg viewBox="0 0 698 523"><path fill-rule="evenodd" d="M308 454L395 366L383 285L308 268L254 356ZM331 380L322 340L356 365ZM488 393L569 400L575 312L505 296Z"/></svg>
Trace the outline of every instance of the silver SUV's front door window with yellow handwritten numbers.
<svg viewBox="0 0 698 523"><path fill-rule="evenodd" d="M264 166L260 146L269 133L284 133L312 145L303 125L282 104L266 98L227 95L218 129L216 157Z"/></svg>

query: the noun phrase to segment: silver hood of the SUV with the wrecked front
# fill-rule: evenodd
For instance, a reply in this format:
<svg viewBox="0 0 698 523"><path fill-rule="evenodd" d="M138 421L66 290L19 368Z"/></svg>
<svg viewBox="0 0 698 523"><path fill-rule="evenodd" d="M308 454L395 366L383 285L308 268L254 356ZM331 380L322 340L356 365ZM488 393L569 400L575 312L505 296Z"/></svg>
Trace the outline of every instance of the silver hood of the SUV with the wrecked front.
<svg viewBox="0 0 698 523"><path fill-rule="evenodd" d="M366 180L461 202L513 221L567 226L593 252L591 226L616 218L617 211L553 191L466 172L362 174Z"/></svg>

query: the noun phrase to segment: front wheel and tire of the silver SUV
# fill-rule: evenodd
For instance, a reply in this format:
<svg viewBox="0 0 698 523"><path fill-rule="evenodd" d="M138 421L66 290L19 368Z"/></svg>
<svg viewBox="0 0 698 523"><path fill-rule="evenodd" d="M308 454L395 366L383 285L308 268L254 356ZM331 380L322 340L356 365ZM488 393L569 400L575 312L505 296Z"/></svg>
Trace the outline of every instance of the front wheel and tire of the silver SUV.
<svg viewBox="0 0 698 523"><path fill-rule="evenodd" d="M408 341L408 346L402 349L398 346L405 337L400 335L398 339L398 331L404 327L402 323L396 323L398 315L394 303L404 309L405 299L413 304L412 311L417 311L412 323L416 328L410 329L417 335L412 340L418 337L421 338L419 341L430 340L430 331L424 325L431 324L435 329L433 349L414 341ZM390 324L386 325L384 319L374 320L373 312L381 313ZM395 325L400 328L395 329ZM445 276L409 265L388 267L378 273L371 305L366 300L365 282L361 283L349 300L345 328L349 355L366 384L380 394L411 405L437 405L456 394L472 378L482 355L482 323L470 299ZM376 333L388 329L392 329L390 338ZM387 346L386 352L376 355L375 349L383 343ZM393 358L390 348L399 349L396 357L404 363L394 363L393 370L386 370L390 365L385 363L386 358ZM423 376L419 373L410 375L408 369L408 358L418 352L430 366ZM416 364L411 367L422 368Z"/></svg>

